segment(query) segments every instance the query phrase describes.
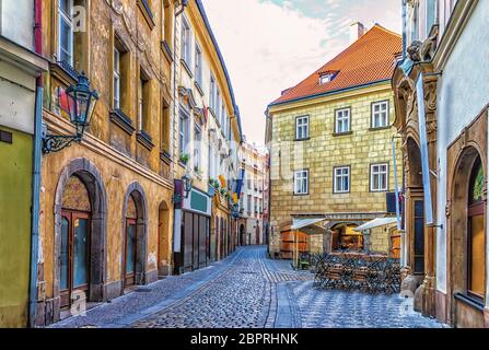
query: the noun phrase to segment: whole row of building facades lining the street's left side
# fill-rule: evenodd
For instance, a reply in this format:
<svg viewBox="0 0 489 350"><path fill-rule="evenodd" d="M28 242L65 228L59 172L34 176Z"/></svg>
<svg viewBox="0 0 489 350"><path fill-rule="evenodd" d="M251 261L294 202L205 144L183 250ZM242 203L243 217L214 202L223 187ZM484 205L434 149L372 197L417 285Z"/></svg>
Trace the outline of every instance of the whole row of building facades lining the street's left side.
<svg viewBox="0 0 489 350"><path fill-rule="evenodd" d="M200 0L7 1L1 19L0 326L49 325L242 243L240 110Z"/></svg>

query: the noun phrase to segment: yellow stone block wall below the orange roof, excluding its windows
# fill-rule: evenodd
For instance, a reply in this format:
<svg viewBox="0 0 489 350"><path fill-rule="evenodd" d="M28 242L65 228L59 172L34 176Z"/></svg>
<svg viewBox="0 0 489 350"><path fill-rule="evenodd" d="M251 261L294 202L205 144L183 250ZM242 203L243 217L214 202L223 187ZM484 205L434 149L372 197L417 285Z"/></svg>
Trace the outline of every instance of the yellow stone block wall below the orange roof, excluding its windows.
<svg viewBox="0 0 489 350"><path fill-rule="evenodd" d="M364 88L331 97L272 106L271 206L273 236L270 248L280 250L280 226L291 214L382 213L386 211L385 192L370 190L370 165L388 163L388 191L394 191L392 137L394 127L371 129L371 106L389 102L389 125L394 122L393 92L388 83ZM334 136L335 110L351 108L351 133ZM310 139L294 141L295 118L310 116ZM396 139L398 182L401 184L400 142ZM350 192L334 194L334 167L350 166ZM293 172L310 171L310 194L293 195ZM322 236L311 238L311 249L323 249Z"/></svg>

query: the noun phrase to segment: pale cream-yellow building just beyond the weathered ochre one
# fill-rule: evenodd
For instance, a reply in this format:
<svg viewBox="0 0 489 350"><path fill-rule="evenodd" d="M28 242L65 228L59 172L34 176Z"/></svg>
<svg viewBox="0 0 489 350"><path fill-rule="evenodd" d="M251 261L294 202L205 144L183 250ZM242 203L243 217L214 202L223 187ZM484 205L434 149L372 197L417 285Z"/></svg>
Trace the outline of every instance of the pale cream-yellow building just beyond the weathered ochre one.
<svg viewBox="0 0 489 350"><path fill-rule="evenodd" d="M201 1L189 1L175 23L174 175L176 183L186 174L194 180L188 198L175 207L179 273L222 259L236 246L230 199L238 177L242 129L225 62Z"/></svg>

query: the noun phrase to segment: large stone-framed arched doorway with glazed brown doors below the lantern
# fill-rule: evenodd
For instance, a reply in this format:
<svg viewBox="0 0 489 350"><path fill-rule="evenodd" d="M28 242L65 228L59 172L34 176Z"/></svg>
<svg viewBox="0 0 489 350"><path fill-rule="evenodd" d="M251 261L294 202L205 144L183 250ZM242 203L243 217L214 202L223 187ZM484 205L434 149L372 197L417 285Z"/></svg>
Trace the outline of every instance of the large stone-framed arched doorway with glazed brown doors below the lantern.
<svg viewBox="0 0 489 350"><path fill-rule="evenodd" d="M55 320L61 310L83 311L86 302L105 300L106 198L89 160L75 159L62 170L55 196Z"/></svg>

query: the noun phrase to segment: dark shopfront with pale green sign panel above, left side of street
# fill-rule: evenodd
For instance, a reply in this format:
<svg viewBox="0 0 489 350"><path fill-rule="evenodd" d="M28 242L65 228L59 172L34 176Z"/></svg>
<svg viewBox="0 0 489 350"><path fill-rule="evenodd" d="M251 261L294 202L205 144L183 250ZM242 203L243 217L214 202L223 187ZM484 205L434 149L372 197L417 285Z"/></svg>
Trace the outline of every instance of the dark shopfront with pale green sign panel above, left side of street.
<svg viewBox="0 0 489 350"><path fill-rule="evenodd" d="M175 184L175 191L181 185ZM211 198L193 188L188 198L175 209L174 261L181 275L206 267L211 261L210 218Z"/></svg>

